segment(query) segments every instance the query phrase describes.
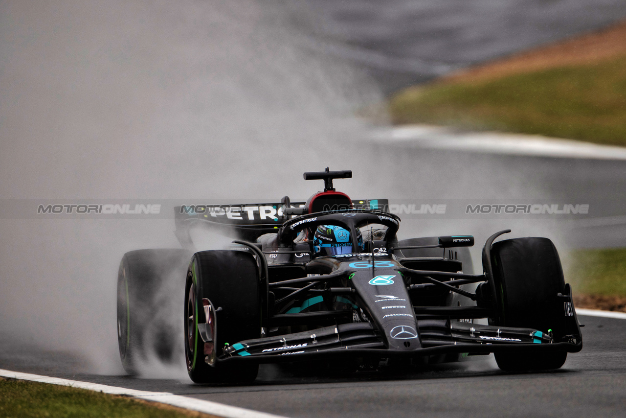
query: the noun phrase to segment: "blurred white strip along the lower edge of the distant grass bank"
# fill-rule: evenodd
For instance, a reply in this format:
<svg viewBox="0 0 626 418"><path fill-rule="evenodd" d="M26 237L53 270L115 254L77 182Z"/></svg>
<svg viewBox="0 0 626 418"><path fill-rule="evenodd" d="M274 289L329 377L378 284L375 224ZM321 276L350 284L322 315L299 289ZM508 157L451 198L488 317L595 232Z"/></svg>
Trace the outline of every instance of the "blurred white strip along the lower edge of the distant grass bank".
<svg viewBox="0 0 626 418"><path fill-rule="evenodd" d="M449 149L488 154L626 160L626 147L591 144L541 135L501 132L458 132L433 125L404 125L374 133L378 141L410 142L424 149Z"/></svg>

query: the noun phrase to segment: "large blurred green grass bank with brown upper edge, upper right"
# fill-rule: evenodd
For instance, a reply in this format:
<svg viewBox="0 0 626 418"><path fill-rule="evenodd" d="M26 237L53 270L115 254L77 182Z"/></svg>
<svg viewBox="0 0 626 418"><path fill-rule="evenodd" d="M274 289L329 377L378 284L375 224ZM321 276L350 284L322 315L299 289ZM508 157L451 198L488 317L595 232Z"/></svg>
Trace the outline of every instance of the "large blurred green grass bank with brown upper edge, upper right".
<svg viewBox="0 0 626 418"><path fill-rule="evenodd" d="M626 145L626 56L485 81L414 86L394 123L435 123Z"/></svg>

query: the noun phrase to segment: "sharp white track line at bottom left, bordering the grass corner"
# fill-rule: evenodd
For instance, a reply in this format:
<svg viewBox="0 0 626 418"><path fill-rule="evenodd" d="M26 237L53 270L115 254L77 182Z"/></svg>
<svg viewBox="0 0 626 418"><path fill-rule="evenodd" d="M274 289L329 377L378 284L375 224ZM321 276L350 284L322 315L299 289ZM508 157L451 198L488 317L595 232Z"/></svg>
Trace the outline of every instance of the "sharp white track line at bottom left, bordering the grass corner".
<svg viewBox="0 0 626 418"><path fill-rule="evenodd" d="M80 380L59 379L57 377L13 372L11 370L3 370L1 368L0 376L8 377L10 379L32 380L33 382L78 387L80 389L94 390L95 392L103 392L105 394L126 395L137 399L160 402L162 404L173 405L184 409L197 410L198 412L204 412L205 414L217 415L224 418L284 418L280 415L267 414L266 412L258 412L251 409L218 404L217 402L211 402L210 400L174 395L168 392L148 392L146 390L127 389L125 387L81 382Z"/></svg>

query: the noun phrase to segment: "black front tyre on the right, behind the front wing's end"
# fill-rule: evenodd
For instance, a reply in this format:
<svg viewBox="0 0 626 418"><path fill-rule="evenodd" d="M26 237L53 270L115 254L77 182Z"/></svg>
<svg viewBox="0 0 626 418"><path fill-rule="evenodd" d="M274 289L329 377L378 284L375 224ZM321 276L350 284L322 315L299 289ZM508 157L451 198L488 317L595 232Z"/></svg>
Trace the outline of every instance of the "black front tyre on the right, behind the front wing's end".
<svg viewBox="0 0 626 418"><path fill-rule="evenodd" d="M514 238L493 244L496 312L492 325L552 332L555 342L565 335L563 269L557 249L548 238ZM498 367L511 372L560 368L567 352L495 353Z"/></svg>

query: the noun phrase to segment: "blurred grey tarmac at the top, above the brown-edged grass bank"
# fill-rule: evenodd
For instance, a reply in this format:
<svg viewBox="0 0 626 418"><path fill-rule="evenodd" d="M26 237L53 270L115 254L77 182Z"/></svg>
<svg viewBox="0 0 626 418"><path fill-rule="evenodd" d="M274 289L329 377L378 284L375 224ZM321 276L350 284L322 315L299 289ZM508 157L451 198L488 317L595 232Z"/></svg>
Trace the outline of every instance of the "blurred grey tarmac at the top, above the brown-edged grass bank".
<svg viewBox="0 0 626 418"><path fill-rule="evenodd" d="M448 71L603 28L626 18L621 0L306 0L336 55L386 93Z"/></svg>

